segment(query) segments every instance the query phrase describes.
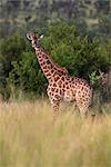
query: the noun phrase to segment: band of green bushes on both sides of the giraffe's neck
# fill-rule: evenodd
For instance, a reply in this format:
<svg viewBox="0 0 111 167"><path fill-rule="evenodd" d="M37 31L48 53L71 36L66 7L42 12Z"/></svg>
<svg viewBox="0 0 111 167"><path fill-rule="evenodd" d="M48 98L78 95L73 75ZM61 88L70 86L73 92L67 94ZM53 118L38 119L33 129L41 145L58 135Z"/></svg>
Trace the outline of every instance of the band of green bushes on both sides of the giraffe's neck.
<svg viewBox="0 0 111 167"><path fill-rule="evenodd" d="M89 80L93 71L107 70L110 65L109 43L103 46L99 38L79 36L72 23L50 24L41 45L72 76ZM4 96L18 97L20 91L31 95L46 92L47 80L26 36L13 33L1 40L0 48L0 84Z"/></svg>

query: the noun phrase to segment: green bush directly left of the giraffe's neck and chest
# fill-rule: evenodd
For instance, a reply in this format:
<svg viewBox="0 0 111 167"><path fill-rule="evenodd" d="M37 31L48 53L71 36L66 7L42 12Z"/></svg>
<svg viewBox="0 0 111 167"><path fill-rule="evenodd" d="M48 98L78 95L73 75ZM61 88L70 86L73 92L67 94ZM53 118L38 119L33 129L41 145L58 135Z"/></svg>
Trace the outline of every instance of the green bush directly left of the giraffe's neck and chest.
<svg viewBox="0 0 111 167"><path fill-rule="evenodd" d="M23 52L20 61L12 62L13 69L9 73L8 84L24 92L41 94L44 91L46 78L41 72L36 55Z"/></svg>

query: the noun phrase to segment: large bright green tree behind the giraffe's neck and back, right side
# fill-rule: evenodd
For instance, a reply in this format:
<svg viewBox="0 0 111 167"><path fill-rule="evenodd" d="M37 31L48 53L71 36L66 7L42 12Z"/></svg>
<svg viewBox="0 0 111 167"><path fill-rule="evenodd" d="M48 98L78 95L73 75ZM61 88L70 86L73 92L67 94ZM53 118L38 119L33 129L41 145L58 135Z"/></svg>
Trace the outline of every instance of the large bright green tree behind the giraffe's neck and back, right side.
<svg viewBox="0 0 111 167"><path fill-rule="evenodd" d="M67 22L49 26L49 36L43 46L54 61L67 67L71 75L88 79L88 76L102 66L108 66L107 49L99 39L80 37L75 27Z"/></svg>

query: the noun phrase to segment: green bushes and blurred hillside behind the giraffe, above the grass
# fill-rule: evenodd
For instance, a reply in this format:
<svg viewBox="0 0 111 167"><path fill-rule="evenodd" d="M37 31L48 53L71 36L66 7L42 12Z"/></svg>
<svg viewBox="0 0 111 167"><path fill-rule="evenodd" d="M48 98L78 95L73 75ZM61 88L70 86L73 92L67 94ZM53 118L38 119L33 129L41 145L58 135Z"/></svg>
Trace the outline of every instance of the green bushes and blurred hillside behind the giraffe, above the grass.
<svg viewBox="0 0 111 167"><path fill-rule="evenodd" d="M26 39L30 30L44 33L42 46L56 62L100 91L98 70L108 72L111 66L110 0L0 0L0 94L4 99L46 95L47 80Z"/></svg>

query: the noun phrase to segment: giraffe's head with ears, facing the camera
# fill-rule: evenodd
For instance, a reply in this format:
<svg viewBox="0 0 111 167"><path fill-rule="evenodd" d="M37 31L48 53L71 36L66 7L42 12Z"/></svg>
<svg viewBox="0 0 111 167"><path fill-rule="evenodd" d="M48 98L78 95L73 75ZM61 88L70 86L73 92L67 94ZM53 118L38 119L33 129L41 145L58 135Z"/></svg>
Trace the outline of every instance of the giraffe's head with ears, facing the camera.
<svg viewBox="0 0 111 167"><path fill-rule="evenodd" d="M28 40L31 41L33 48L40 47L40 40L43 38L43 35L37 32L27 33Z"/></svg>

